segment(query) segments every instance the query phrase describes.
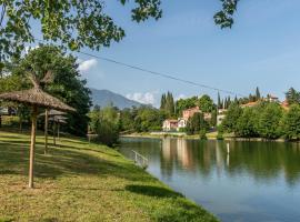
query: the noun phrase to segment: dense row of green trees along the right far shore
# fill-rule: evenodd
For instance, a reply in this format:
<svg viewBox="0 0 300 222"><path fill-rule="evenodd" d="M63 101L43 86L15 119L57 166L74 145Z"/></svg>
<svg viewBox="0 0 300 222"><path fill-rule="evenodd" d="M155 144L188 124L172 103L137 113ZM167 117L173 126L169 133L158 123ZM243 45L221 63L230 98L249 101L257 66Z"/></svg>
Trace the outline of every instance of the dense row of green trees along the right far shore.
<svg viewBox="0 0 300 222"><path fill-rule="evenodd" d="M287 140L300 139L300 92L293 88L286 93L289 109L277 102L261 100L257 105L242 109L230 104L220 131L233 132L242 138Z"/></svg>

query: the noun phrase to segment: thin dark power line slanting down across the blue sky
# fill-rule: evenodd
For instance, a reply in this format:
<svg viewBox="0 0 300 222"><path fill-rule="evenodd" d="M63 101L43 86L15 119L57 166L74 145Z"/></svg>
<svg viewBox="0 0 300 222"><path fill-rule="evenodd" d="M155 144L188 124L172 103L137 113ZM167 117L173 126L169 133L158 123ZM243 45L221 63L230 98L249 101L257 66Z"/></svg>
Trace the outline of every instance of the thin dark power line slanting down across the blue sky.
<svg viewBox="0 0 300 222"><path fill-rule="evenodd" d="M39 40L39 39L34 39L34 40L44 43L44 41L42 41L42 40ZM94 59L98 59L98 60L102 60L102 61L107 61L107 62L110 62L110 63L119 64L119 65L122 65L122 67L126 67L126 68L129 68L129 69L134 69L134 70L141 71L141 72L144 72L144 73L149 73L149 74L157 75L157 77L162 77L162 78L166 78L166 79L171 79L171 80L188 83L188 84L191 84L191 85L196 85L196 87L200 87L200 88L204 88L204 89L209 89L209 90L213 90L213 91L218 91L218 92L224 92L227 94L246 97L246 95L243 95L241 93L237 93L237 92L233 92L233 91L230 91L230 90L219 89L219 88L214 88L214 87L211 87L211 85L208 85L208 84L202 84L202 83L199 83L199 82L184 80L184 79L174 77L176 74L167 74L167 73L162 73L162 72L148 70L148 69L144 69L142 67L128 64L128 63L117 61L117 60L113 60L113 59L110 59L110 58L107 58L107 57L100 57L100 56L91 54L91 53L88 53L88 52L81 52L81 51L77 51L76 53L84 54L84 56L88 56L88 57L91 57L91 58L94 58Z"/></svg>

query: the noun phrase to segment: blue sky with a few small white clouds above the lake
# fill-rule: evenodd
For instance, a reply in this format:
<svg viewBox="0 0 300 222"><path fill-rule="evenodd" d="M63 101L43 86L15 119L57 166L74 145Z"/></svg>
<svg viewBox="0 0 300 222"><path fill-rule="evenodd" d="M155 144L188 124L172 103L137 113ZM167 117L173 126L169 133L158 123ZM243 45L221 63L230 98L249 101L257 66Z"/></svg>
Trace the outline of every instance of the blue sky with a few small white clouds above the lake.
<svg viewBox="0 0 300 222"><path fill-rule="evenodd" d="M257 85L281 99L290 87L300 90L300 1L241 0L236 23L227 30L213 23L220 6L219 0L162 0L162 19L137 24L130 6L109 0L106 10L127 37L99 52L83 51L241 94ZM217 97L216 91L79 58L89 87L141 102L157 105L168 90L176 98Z"/></svg>

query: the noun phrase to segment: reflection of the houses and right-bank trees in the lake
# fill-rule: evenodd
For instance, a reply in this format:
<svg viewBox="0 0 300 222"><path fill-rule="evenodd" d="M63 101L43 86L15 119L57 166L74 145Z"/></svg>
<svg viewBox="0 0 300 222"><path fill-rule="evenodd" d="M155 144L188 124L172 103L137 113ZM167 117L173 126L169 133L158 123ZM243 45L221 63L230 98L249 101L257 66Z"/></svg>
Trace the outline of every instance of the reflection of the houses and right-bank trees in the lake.
<svg viewBox="0 0 300 222"><path fill-rule="evenodd" d="M266 182L284 174L286 182L294 185L300 178L300 147L298 143L230 142L230 153L223 141L163 139L161 171L171 176L174 169L218 176L226 171L230 176L248 174L257 182Z"/></svg>

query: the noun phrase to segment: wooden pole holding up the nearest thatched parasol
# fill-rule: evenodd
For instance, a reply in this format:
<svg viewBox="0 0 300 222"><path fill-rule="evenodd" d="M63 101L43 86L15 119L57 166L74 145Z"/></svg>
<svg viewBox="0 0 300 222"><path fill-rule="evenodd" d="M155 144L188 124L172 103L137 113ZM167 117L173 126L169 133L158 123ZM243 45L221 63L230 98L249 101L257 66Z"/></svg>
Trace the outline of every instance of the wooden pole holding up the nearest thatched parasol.
<svg viewBox="0 0 300 222"><path fill-rule="evenodd" d="M32 108L32 125L31 125L31 144L30 144L30 160L29 160L29 184L30 189L33 188L33 172L34 172L34 147L36 147L36 132L37 132L37 117L38 107Z"/></svg>

